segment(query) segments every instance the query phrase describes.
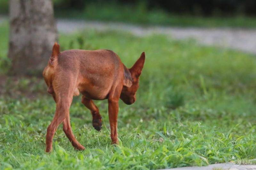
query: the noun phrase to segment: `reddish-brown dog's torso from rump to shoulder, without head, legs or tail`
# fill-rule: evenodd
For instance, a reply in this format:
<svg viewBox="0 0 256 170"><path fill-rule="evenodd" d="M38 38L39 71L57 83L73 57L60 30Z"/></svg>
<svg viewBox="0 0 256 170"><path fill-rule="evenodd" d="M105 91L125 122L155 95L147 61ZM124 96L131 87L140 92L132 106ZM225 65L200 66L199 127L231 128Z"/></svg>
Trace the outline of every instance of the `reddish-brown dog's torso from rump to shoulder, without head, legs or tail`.
<svg viewBox="0 0 256 170"><path fill-rule="evenodd" d="M58 54L52 67L50 62L48 65L48 75L44 77L49 77L52 89L63 87L72 77L76 81L75 96L81 92L96 100L107 97L124 70L120 58L111 50L66 50Z"/></svg>

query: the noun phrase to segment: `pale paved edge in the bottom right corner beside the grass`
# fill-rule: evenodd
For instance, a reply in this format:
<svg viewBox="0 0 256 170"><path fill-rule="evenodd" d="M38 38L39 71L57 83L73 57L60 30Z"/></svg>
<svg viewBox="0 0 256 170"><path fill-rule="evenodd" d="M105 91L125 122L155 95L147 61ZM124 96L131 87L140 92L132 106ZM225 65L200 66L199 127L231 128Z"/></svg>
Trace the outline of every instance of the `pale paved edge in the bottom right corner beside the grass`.
<svg viewBox="0 0 256 170"><path fill-rule="evenodd" d="M255 170L256 165L233 165L232 163L212 164L208 166L189 166L181 168L171 168L168 170ZM167 170L167 169L166 169Z"/></svg>

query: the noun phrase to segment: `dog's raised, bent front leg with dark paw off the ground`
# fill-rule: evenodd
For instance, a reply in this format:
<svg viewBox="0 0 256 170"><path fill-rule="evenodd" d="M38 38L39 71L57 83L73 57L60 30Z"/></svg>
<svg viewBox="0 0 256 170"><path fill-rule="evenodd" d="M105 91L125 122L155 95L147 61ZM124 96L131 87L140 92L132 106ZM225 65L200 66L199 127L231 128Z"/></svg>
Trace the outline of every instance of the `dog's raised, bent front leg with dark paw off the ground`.
<svg viewBox="0 0 256 170"><path fill-rule="evenodd" d="M86 98L85 96L82 97L82 103L91 111L92 113L92 126L96 130L100 131L102 126L101 115L99 112L98 107L93 103L91 99Z"/></svg>

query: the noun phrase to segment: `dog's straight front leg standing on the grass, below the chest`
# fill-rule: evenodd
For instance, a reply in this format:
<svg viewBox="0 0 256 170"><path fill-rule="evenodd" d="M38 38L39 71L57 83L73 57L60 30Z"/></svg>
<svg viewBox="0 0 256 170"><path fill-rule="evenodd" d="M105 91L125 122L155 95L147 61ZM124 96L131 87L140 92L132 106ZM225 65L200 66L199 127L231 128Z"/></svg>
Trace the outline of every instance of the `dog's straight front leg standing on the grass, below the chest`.
<svg viewBox="0 0 256 170"><path fill-rule="evenodd" d="M111 140L113 144L119 144L117 138L117 114L118 114L118 99L108 99L108 117L111 130Z"/></svg>

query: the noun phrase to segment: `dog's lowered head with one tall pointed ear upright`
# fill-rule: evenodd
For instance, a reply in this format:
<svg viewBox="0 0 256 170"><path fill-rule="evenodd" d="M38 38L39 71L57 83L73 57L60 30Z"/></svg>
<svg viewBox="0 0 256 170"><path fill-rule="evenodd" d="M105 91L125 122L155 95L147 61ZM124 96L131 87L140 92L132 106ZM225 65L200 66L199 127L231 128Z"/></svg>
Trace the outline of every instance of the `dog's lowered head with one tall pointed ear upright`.
<svg viewBox="0 0 256 170"><path fill-rule="evenodd" d="M120 95L125 104L133 104L136 101L136 92L139 88L139 78L145 62L145 53L142 52L140 58L132 68L124 66L124 86Z"/></svg>

